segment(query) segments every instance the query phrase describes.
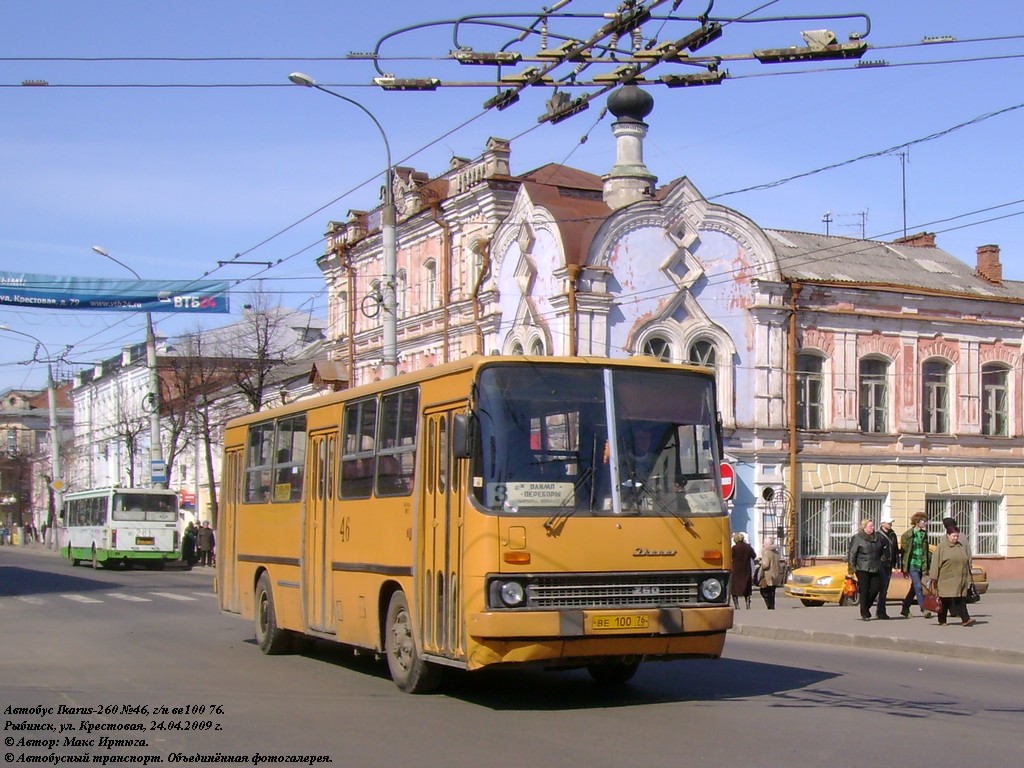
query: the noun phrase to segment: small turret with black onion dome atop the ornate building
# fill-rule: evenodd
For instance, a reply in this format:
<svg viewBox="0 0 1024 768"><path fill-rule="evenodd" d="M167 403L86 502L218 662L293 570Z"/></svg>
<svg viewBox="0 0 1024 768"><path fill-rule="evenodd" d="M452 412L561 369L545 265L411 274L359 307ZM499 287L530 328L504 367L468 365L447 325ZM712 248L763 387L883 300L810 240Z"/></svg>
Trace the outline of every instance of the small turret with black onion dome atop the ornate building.
<svg viewBox="0 0 1024 768"><path fill-rule="evenodd" d="M653 97L633 84L621 86L608 96L608 112L618 118L611 125L615 165L602 179L604 202L612 210L654 195L657 177L643 163L643 139L648 128L643 119L653 109Z"/></svg>

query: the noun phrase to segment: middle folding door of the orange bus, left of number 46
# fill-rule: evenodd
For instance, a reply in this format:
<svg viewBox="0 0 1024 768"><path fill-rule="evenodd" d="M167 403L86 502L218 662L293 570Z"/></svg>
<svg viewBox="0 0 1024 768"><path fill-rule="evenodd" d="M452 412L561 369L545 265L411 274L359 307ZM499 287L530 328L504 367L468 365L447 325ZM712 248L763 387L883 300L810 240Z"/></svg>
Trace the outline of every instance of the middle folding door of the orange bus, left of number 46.
<svg viewBox="0 0 1024 768"><path fill-rule="evenodd" d="M306 626L334 633L331 582L331 524L334 498L334 463L338 437L334 432L309 438L305 544L302 552L302 584Z"/></svg>

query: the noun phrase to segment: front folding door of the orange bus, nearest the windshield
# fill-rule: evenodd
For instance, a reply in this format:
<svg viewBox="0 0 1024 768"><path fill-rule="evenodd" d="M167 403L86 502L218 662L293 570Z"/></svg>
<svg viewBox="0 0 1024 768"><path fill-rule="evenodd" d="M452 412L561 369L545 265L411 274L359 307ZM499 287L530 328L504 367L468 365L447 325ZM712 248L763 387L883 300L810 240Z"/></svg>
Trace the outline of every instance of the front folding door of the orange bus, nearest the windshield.
<svg viewBox="0 0 1024 768"><path fill-rule="evenodd" d="M464 410L464 409L460 409ZM452 458L453 410L426 414L426 461L419 573L419 620L424 650L449 657L465 656L462 631L463 502L462 464Z"/></svg>

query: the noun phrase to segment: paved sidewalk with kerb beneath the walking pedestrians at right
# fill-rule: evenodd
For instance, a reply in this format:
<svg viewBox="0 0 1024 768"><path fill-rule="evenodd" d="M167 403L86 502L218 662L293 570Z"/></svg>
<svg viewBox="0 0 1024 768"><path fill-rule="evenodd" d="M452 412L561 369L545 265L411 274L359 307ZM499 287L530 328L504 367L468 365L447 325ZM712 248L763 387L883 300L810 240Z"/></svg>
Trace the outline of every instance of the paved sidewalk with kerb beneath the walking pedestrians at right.
<svg viewBox="0 0 1024 768"><path fill-rule="evenodd" d="M731 634L1024 665L1024 583L991 585L969 607L977 620L974 627L962 627L951 616L948 625L940 627L935 616L926 620L916 606L909 618L902 618L899 603L889 603L889 614L895 618L862 622L854 606L808 608L785 597L781 589L776 594L776 609L767 610L755 593L753 607L735 612Z"/></svg>

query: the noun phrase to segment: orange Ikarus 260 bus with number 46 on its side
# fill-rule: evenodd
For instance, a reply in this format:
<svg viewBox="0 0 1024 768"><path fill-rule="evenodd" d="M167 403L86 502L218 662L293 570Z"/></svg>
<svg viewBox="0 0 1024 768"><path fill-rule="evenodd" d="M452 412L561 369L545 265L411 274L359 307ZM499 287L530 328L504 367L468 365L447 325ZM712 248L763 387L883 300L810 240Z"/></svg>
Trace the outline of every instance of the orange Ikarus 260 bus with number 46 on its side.
<svg viewBox="0 0 1024 768"><path fill-rule="evenodd" d="M382 653L397 686L536 664L629 680L732 627L708 369L474 356L231 421L217 579L259 647Z"/></svg>

